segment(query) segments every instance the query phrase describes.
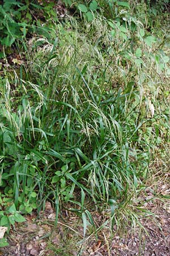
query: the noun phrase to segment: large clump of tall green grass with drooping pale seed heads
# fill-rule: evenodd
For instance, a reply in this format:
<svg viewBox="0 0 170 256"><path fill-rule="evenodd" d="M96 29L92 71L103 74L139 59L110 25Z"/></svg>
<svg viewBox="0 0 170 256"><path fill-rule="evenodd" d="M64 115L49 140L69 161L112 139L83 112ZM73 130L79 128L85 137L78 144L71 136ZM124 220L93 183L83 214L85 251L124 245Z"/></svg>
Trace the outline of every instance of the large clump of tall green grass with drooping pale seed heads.
<svg viewBox="0 0 170 256"><path fill-rule="evenodd" d="M160 42L146 42L143 24L121 15L124 28L103 16L83 28L68 18L54 44L34 39L25 70L6 77L1 97L3 192L23 213L46 200L57 217L62 205L74 210L84 236L95 226L90 200L111 209L112 228L139 223L150 159L169 141L166 50L155 55Z"/></svg>

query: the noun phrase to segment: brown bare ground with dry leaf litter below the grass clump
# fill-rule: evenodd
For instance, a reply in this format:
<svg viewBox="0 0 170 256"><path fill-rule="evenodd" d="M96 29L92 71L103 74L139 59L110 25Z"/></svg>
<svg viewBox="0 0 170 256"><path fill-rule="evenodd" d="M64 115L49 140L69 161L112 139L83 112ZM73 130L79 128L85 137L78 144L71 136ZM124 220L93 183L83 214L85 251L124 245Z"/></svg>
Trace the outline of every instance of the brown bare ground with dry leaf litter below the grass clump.
<svg viewBox="0 0 170 256"><path fill-rule="evenodd" d="M0 255L169 256L170 205L160 201L147 203L147 208L153 207L155 216L141 220L146 232L137 227L135 232L131 233L129 226L124 230L123 236L116 234L111 238L109 228L105 226L98 233L97 241L92 234L81 246L78 242L83 239L83 228L78 218L67 216L69 223L61 220L55 228L55 214L50 203L46 203L45 212L40 220L36 221L36 216L29 216L27 223L18 225L11 231L8 238L10 246L1 249Z"/></svg>

